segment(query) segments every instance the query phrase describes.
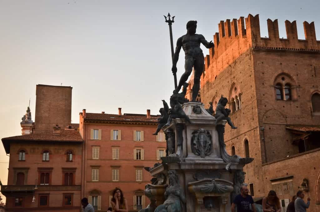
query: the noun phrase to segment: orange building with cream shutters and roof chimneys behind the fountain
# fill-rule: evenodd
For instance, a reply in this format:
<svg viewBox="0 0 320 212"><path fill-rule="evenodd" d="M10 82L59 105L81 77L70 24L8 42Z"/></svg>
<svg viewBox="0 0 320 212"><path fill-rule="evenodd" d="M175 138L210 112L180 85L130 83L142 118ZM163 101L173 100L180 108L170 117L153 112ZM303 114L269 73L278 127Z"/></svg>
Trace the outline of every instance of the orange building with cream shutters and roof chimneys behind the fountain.
<svg viewBox="0 0 320 212"><path fill-rule="evenodd" d="M152 135L157 116L145 114L80 113L79 132L85 140L83 148L82 196L98 211L111 207L112 190L124 192L129 211L148 205L144 196L150 174L144 167L153 167L165 156L164 132Z"/></svg>

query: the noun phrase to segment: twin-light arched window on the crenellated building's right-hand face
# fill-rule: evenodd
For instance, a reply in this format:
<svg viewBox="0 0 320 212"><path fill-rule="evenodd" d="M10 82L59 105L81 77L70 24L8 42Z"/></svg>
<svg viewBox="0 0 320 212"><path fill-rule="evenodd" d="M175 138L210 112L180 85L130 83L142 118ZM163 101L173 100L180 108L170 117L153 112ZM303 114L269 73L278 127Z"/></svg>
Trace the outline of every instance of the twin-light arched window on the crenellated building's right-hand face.
<svg viewBox="0 0 320 212"><path fill-rule="evenodd" d="M297 91L293 78L282 73L276 76L274 80L274 89L277 100L297 100Z"/></svg>

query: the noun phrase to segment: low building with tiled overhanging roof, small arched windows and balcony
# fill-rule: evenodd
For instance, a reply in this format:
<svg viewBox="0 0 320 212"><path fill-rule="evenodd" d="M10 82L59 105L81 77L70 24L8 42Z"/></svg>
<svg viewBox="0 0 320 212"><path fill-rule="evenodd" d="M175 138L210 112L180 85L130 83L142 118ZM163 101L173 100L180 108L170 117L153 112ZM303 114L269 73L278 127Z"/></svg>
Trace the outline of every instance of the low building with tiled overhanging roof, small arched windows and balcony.
<svg viewBox="0 0 320 212"><path fill-rule="evenodd" d="M66 129L2 138L10 154L6 211L80 210L83 139Z"/></svg>

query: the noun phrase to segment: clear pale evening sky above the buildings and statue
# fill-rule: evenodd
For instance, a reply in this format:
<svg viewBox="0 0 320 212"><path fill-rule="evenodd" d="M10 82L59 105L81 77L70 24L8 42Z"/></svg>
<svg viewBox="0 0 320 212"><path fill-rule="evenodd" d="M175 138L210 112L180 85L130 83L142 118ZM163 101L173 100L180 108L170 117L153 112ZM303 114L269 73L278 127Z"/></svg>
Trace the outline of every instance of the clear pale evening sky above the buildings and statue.
<svg viewBox="0 0 320 212"><path fill-rule="evenodd" d="M260 14L261 37L267 19L315 21L320 40L319 1L93 1L0 0L0 138L21 134L20 121L29 98L34 120L36 84L72 86L72 122L79 112L158 114L161 99L174 89L169 27L163 15L175 17L173 40L197 20L197 33L210 41L220 20ZM204 55L209 51L202 46ZM183 73L180 52L178 80ZM0 145L0 179L7 183L9 157Z"/></svg>

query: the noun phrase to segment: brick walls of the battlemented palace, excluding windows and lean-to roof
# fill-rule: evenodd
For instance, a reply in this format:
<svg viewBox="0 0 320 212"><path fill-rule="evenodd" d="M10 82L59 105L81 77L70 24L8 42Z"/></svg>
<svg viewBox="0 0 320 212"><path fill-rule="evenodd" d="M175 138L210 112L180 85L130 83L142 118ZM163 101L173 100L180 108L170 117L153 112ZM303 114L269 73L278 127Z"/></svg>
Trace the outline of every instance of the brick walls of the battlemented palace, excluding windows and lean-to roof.
<svg viewBox="0 0 320 212"><path fill-rule="evenodd" d="M291 165L287 169L281 162L268 165L267 171L262 166L298 153L298 147L292 145L292 134L285 129L286 124L320 125L320 117L312 116L310 110L311 94L320 90L320 42L315 38L314 23L304 22L306 40L298 40L295 21L285 23L287 39L279 38L276 20L267 21L269 38L260 38L259 21L258 15L249 15L245 20L240 17L221 21L219 33L214 35L215 47L205 57L205 73L201 79L201 99L207 107L212 100L218 102L221 94L230 101L234 84L241 90L242 108L230 114L238 129L226 126L225 142L229 153L234 145L236 154L244 157L244 140L248 139L250 157L255 160L244 167L245 182L253 183L254 198L267 195L272 188L267 179L283 177L280 169L289 169L295 176L306 172L305 176L315 183L317 178L311 171L316 167L318 173L320 165L318 160L310 160L313 153L306 153L299 162L289 157L286 162ZM296 82L296 101L276 100L272 85L280 73L291 75ZM230 106L229 103L227 107ZM305 163L313 167L305 169ZM302 183L300 178L294 180L295 189ZM319 190L315 186L313 189Z"/></svg>

